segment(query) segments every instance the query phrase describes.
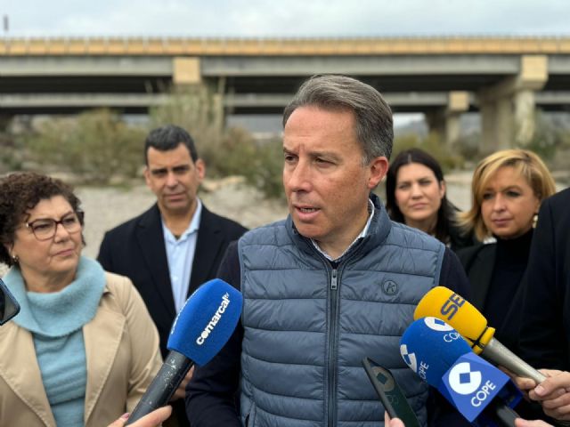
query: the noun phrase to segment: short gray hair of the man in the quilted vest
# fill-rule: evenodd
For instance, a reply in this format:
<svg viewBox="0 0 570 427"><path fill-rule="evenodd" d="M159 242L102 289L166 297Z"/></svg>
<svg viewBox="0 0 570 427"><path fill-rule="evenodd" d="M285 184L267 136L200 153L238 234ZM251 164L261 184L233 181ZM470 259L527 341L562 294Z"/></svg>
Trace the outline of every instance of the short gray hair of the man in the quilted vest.
<svg viewBox="0 0 570 427"><path fill-rule="evenodd" d="M285 107L283 127L295 109L305 106L352 110L356 117L356 137L364 153L364 165L370 164L375 157L390 158L394 143L392 109L371 85L346 76L313 76L301 85Z"/></svg>

